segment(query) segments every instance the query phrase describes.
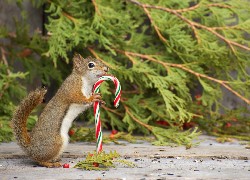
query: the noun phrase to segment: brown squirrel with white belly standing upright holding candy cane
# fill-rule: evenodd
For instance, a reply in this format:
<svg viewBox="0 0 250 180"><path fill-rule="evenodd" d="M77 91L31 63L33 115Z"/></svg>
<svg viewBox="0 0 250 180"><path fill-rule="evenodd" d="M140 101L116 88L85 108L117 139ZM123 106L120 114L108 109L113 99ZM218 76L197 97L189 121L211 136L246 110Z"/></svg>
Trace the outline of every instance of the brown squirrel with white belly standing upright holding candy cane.
<svg viewBox="0 0 250 180"><path fill-rule="evenodd" d="M59 158L68 145L73 120L93 102L104 103L100 93L92 94L92 88L108 70L98 59L75 54L72 73L45 106L30 133L26 127L28 116L43 101L47 90L38 88L21 101L13 114L13 131L17 143L31 159L41 166L61 167Z"/></svg>

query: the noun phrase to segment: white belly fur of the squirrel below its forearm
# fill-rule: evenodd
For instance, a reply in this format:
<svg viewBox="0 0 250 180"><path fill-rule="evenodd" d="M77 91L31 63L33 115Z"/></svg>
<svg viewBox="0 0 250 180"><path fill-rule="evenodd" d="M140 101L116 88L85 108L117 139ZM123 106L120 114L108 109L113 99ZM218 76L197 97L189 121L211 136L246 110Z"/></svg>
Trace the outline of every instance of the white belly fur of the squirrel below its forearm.
<svg viewBox="0 0 250 180"><path fill-rule="evenodd" d="M69 143L69 128L72 125L72 122L74 119L83 111L85 111L89 105L81 105L81 104L71 104L69 106L68 112L66 113L65 117L63 118L62 125L61 125L61 137L63 140L63 146L60 151L60 154L63 152L63 150L66 148L66 146Z"/></svg>

